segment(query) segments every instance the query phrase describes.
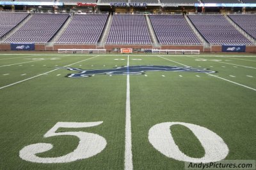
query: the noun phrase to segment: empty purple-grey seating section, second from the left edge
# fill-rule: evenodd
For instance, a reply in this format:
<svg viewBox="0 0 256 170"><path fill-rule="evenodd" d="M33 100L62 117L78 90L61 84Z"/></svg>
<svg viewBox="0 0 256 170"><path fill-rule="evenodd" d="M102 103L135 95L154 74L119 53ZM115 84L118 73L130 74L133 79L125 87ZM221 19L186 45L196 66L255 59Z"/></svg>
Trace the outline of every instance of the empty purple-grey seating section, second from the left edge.
<svg viewBox="0 0 256 170"><path fill-rule="evenodd" d="M61 28L68 14L36 13L5 43L47 43Z"/></svg>

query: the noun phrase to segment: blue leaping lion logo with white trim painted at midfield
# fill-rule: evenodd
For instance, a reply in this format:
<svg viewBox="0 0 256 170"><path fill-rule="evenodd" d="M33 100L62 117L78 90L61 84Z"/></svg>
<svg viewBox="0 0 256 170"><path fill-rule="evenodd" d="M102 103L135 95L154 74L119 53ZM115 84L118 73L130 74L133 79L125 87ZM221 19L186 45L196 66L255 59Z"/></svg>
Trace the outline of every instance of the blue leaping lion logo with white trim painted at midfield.
<svg viewBox="0 0 256 170"><path fill-rule="evenodd" d="M140 75L145 74L147 71L181 71L181 72L194 72L194 73L216 73L204 68L193 67L177 67L177 66L122 66L114 67L113 69L79 69L73 67L64 67L70 71L79 71L79 73L68 74L70 78L89 77L95 74L109 74L109 75Z"/></svg>

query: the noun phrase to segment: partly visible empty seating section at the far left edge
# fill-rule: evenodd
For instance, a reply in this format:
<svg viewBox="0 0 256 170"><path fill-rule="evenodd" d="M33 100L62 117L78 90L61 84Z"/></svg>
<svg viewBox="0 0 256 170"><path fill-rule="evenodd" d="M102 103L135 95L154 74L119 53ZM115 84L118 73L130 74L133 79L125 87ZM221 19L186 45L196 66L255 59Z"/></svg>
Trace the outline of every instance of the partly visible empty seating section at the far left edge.
<svg viewBox="0 0 256 170"><path fill-rule="evenodd" d="M0 12L0 38L26 18L28 13Z"/></svg>

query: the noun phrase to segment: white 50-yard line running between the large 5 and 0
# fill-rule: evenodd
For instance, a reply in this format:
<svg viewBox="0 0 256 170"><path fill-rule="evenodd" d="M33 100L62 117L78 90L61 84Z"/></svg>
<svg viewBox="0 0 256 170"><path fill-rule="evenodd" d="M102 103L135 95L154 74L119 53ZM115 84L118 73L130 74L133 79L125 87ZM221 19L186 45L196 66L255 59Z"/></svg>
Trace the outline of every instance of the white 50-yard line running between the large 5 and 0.
<svg viewBox="0 0 256 170"><path fill-rule="evenodd" d="M124 169L132 170L132 132L131 132L131 104L130 104L130 76L129 76L129 55L127 58L127 89L126 89L126 113L125 113L125 155Z"/></svg>

